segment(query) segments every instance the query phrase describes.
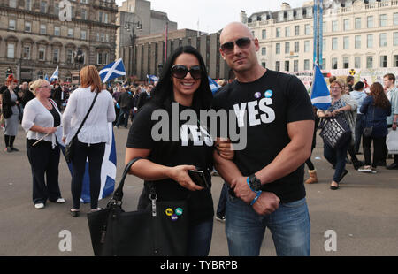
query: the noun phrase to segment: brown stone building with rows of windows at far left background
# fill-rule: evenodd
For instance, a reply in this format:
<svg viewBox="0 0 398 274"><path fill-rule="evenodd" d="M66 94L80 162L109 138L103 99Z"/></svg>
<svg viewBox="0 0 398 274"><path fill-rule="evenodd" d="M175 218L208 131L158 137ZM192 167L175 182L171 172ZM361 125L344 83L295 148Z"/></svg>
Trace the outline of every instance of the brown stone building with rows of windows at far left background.
<svg viewBox="0 0 398 274"><path fill-rule="evenodd" d="M115 59L115 1L64 2L70 21L60 18L66 8L58 0L0 0L0 80L10 71L18 80L50 78L59 66L60 80L77 83L82 66L100 69Z"/></svg>

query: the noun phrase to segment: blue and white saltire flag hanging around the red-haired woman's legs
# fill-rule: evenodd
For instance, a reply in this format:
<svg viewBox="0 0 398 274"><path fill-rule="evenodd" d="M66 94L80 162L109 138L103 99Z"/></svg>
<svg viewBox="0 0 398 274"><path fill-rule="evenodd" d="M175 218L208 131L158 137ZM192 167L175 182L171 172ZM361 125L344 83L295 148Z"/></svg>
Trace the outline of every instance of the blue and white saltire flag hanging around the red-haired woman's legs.
<svg viewBox="0 0 398 274"><path fill-rule="evenodd" d="M112 123L108 124L109 134L111 141L109 144L105 145L105 153L103 155L103 164L101 166L101 188L99 194L99 200L111 195L115 188L115 178L116 178L116 145L115 136L113 134ZM59 148L61 148L62 153L65 155L65 143L61 141L62 130L57 131L57 141L59 143ZM69 171L71 175L73 174L72 164L68 164ZM80 201L83 203L90 202L90 176L88 174L88 161L86 161L86 172L83 177L83 186L81 191Z"/></svg>

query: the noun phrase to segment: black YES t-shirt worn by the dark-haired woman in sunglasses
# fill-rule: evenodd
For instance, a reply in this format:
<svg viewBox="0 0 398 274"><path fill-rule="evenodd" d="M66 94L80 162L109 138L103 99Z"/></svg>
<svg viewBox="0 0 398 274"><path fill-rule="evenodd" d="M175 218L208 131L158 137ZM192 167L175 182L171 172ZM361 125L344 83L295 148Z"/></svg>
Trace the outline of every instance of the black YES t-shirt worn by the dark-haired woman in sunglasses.
<svg viewBox="0 0 398 274"><path fill-rule="evenodd" d="M192 164L201 170L212 168L213 141L206 130L207 126L197 122L191 124L188 122L189 118L180 120L181 111L189 110L189 108L177 103L174 104L179 106L178 117L173 117L170 112L162 109L164 114L167 112L168 118L164 119L164 117L160 118L159 116L157 120L152 120L151 117L152 113L155 110L159 110L159 108L154 103L145 104L138 111L134 118L134 123L130 127L126 147L150 149L149 160L156 164L170 167L180 164ZM159 126L162 121L167 121L166 125L168 124L168 128L166 128L167 126ZM172 129L174 129L174 135L177 129L175 141L172 139ZM164 136L169 135L169 138L159 140L159 136L165 132L169 134ZM205 174L207 181L211 185L210 172L207 171ZM213 217L214 209L210 188L191 192L172 179L155 181L155 186L158 201L184 200L188 198L191 224L197 224ZM148 194L149 184L145 181L142 193L142 199L144 200L140 201L142 207L150 202Z"/></svg>

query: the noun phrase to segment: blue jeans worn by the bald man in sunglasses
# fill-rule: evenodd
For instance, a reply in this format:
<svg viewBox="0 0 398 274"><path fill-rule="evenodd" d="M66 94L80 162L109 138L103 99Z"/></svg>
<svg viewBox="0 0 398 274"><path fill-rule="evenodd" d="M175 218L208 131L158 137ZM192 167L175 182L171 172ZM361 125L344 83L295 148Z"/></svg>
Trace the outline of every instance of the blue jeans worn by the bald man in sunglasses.
<svg viewBox="0 0 398 274"><path fill-rule="evenodd" d="M277 255L310 255L310 214L305 198L281 203L272 214L261 216L239 198L230 194L227 196L226 238L229 255L259 255L266 227L272 233Z"/></svg>

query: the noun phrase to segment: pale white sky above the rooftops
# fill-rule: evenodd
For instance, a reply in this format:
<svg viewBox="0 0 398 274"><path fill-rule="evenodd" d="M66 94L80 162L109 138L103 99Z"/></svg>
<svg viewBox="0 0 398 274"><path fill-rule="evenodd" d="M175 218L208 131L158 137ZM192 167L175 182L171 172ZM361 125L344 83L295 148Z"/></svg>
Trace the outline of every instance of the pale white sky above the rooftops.
<svg viewBox="0 0 398 274"><path fill-rule="evenodd" d="M122 0L116 0L121 5ZM293 8L304 0L151 0L151 9L166 12L168 18L178 23L178 28L199 29L214 33L227 23L240 20L241 11L248 16L258 11L279 11L282 2ZM199 21L199 28L198 28Z"/></svg>

